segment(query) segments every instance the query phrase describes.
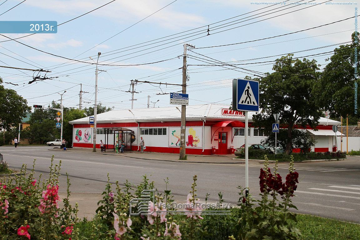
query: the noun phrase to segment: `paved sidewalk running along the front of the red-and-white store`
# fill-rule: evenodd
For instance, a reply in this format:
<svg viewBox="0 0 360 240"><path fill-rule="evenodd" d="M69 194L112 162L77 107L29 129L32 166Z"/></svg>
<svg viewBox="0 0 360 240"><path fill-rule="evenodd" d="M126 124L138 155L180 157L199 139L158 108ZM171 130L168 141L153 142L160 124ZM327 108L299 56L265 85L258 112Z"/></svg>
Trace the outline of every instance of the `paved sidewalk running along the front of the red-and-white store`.
<svg viewBox="0 0 360 240"><path fill-rule="evenodd" d="M49 150L53 151L62 151L59 148L51 148ZM101 153L100 149L96 149L96 153L93 153L93 149L74 149L68 148L68 152L74 153L91 153L91 154L102 154L102 155L114 155L127 158L136 158L136 159L145 159L145 160L157 160L157 161L166 161L166 162L183 162L183 163L220 163L220 164L244 164L244 160L234 159L234 154L227 155L187 155L186 160L179 160L179 154L171 153L150 153L150 152L136 152L136 151L125 151L125 153L115 154L112 149L107 149L106 152ZM255 161L249 161L253 163L260 163ZM253 164L252 163L252 164Z"/></svg>

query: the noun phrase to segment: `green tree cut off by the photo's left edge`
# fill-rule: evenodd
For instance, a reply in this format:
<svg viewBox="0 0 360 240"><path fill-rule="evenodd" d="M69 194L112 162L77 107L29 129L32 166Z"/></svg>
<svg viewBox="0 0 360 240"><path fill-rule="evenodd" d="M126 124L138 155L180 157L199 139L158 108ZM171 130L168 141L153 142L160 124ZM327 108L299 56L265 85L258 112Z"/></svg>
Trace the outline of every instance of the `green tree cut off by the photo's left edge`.
<svg viewBox="0 0 360 240"><path fill-rule="evenodd" d="M0 78L0 84L2 83L3 80ZM10 130L12 126L18 126L30 110L27 101L15 90L0 85L0 128Z"/></svg>

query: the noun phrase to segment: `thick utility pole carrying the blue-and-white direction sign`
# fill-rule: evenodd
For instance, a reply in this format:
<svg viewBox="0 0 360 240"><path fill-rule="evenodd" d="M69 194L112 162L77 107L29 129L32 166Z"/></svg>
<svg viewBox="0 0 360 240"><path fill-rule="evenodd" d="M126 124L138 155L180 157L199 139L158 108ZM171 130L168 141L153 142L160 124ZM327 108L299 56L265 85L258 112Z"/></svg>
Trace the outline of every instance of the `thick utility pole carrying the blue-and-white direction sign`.
<svg viewBox="0 0 360 240"><path fill-rule="evenodd" d="M187 47L195 47L189 44L184 44L183 57L183 94L186 94L186 50ZM185 128L186 128L186 105L181 105L181 129L180 129L180 159L185 159Z"/></svg>

